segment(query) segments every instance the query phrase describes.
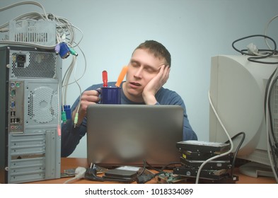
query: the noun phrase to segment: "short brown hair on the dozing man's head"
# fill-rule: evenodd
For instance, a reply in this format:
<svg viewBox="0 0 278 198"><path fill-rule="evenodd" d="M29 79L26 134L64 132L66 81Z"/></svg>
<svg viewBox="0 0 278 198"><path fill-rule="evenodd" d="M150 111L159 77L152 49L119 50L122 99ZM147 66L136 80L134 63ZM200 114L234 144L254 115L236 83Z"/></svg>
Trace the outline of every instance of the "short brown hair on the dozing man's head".
<svg viewBox="0 0 278 198"><path fill-rule="evenodd" d="M166 64L170 67L171 65L171 55L170 52L162 45L160 42L157 42L155 40L146 40L145 42L142 42L138 47L135 48L135 50L138 49L144 49L151 52L151 54L154 54L154 57L164 58L166 60ZM134 50L134 51L135 51Z"/></svg>

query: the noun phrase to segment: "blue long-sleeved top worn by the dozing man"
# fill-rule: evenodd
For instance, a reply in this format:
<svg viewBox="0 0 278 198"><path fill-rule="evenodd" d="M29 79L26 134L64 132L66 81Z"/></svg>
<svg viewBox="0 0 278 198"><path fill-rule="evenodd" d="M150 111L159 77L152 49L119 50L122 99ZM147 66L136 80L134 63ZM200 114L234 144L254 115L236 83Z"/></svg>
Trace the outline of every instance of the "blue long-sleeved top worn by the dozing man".
<svg viewBox="0 0 278 198"><path fill-rule="evenodd" d="M96 84L90 86L86 89L88 90L95 90L102 87L103 84ZM108 83L108 86L115 86L115 82ZM122 86L122 84L121 84ZM129 100L122 91L121 94L121 103L126 105L145 105L145 103L134 103ZM183 99L175 93L175 91L170 91L167 88L161 88L156 93L156 100L158 103L156 105L180 105L183 107L183 140L197 140L197 135L192 130L190 126L189 120L186 114L185 103ZM75 108L79 105L79 98L76 99L74 105L71 107L71 112L75 110ZM79 127L74 127L73 121L67 120L65 124L62 124L62 145L61 145L61 156L67 157L72 152L74 152L76 146L79 144L80 139L86 134L87 132L87 120L86 117L83 119L82 123ZM182 141L182 140L181 140Z"/></svg>

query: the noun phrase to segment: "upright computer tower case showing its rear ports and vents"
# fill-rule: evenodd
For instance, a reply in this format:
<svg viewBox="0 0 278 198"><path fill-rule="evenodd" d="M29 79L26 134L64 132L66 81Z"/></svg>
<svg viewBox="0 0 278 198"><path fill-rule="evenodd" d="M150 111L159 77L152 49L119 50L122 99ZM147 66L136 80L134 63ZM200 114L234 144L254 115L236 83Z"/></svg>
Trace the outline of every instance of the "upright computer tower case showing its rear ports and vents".
<svg viewBox="0 0 278 198"><path fill-rule="evenodd" d="M60 177L61 80L54 50L0 47L0 183Z"/></svg>

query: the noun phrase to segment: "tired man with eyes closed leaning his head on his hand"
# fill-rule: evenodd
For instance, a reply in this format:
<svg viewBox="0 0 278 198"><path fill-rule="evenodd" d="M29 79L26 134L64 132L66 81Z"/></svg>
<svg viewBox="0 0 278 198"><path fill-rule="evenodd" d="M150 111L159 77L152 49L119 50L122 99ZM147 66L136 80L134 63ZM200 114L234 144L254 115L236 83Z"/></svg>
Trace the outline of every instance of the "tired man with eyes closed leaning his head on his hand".
<svg viewBox="0 0 278 198"><path fill-rule="evenodd" d="M128 64L126 81L121 84L122 104L136 105L180 105L184 108L183 140L195 139L197 135L192 130L187 119L185 103L175 93L162 86L166 83L170 73L170 53L154 40L146 40L132 53ZM108 83L114 86L115 82ZM86 108L88 105L99 102L98 91L95 89L103 86L103 83L93 85L86 89L77 98L71 107L72 120L68 120L62 126L62 157L69 156L80 139L86 134ZM78 112L78 113L77 113Z"/></svg>

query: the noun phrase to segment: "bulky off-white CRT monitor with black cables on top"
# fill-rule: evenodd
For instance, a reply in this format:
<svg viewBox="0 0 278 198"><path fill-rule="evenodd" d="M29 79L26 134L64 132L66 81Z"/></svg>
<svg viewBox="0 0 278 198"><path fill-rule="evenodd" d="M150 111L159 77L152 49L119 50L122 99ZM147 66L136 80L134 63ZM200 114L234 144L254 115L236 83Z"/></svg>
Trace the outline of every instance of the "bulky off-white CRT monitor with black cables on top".
<svg viewBox="0 0 278 198"><path fill-rule="evenodd" d="M271 57L263 60L277 62L277 59ZM209 88L212 105L229 136L245 132L245 141L238 151L237 158L261 165L270 165L267 153L264 100L267 81L276 68L277 64L250 62L246 55L212 57ZM275 119L278 115L278 107L275 105L278 98L277 91L272 92L272 97L270 104ZM276 139L278 139L277 126L274 124ZM238 139L233 141L234 148L238 146L240 137L238 136ZM209 141L225 142L227 140L228 137L210 106Z"/></svg>

